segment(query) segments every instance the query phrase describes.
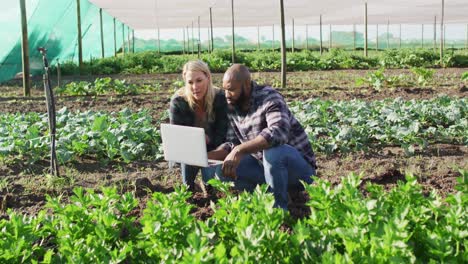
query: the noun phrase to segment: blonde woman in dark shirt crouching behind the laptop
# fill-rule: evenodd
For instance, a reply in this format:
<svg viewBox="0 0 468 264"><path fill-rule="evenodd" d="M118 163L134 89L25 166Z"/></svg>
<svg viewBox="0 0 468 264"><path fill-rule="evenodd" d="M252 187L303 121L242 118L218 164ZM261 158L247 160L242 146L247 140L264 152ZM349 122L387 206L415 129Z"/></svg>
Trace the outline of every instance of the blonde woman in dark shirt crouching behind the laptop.
<svg viewBox="0 0 468 264"><path fill-rule="evenodd" d="M201 60L187 62L182 77L185 86L171 98L171 124L204 128L207 150L214 150L226 139L228 119L224 91L213 86L210 69ZM214 176L216 168L201 168L204 183ZM183 183L191 191L199 170L200 167L181 164Z"/></svg>

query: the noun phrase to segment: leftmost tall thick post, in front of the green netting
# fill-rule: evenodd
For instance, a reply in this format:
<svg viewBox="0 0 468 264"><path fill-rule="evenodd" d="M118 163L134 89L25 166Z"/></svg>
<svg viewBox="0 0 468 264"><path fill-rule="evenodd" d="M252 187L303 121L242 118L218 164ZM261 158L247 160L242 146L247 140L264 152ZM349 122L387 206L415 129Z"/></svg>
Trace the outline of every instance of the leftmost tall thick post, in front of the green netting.
<svg viewBox="0 0 468 264"><path fill-rule="evenodd" d="M23 95L31 96L31 81L29 79L29 40L28 21L26 18L25 0L20 0L21 9L21 58L23 68Z"/></svg>

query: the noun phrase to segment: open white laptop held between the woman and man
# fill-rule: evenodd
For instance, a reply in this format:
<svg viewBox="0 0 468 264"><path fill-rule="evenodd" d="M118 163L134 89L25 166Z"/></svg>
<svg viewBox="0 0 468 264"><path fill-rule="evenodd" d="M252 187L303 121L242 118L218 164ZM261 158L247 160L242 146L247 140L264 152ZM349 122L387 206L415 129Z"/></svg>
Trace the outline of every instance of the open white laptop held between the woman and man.
<svg viewBox="0 0 468 264"><path fill-rule="evenodd" d="M199 167L223 164L222 160L208 160L203 128L161 124L161 138L166 161Z"/></svg>

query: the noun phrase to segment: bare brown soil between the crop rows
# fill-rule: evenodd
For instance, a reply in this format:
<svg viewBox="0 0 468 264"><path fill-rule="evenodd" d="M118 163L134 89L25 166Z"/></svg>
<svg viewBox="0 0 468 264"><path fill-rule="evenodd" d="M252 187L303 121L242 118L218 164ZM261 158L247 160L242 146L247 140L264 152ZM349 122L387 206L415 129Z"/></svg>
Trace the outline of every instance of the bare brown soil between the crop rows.
<svg viewBox="0 0 468 264"><path fill-rule="evenodd" d="M468 69L436 70L434 85L428 87L394 87L377 92L368 87L357 87L355 79L368 71L322 71L288 74L287 89L280 89L287 101L321 98L329 100L380 100L402 97L404 99L430 99L446 94L452 97L465 97L467 88L460 76ZM390 70L389 74L408 73L408 70ZM64 82L94 80L96 76L70 77ZM111 76L126 79L131 83L162 84L160 91L135 96L106 95L97 97L63 96L57 98L57 109L67 107L72 111L103 110L119 111L149 109L158 119L166 111L170 96L174 91L171 84L180 79L179 74ZM274 84L279 80L278 73L254 73L253 77L262 83ZM214 83L220 85L221 74L215 74ZM0 113L45 112L41 81L35 80L32 97L22 97L19 81L0 86ZM368 153L318 155L318 177L333 184L341 181L349 173L362 173L363 184L367 182L383 185L391 189L397 181L404 181L405 173L413 173L423 186L423 191L436 191L441 196L454 192L459 169L468 169L468 148L465 145L436 144L419 150L413 156L406 156L401 148L388 147ZM171 192L174 185L181 182L177 168L169 168L164 161L140 161L130 164L110 163L103 165L96 160L81 160L61 167L61 178L45 176L48 162L25 165L21 162L0 163L0 218L6 218L6 210L11 208L25 214L35 214L44 208L46 196L63 195L65 200L77 186L99 189L100 186L117 186L124 191L133 191L140 199L136 214L140 214L150 199L150 191ZM189 202L195 208L193 214L206 219L212 214L210 201L216 201L222 194L205 191L197 187ZM308 214L304 193L291 193L289 206L293 217Z"/></svg>

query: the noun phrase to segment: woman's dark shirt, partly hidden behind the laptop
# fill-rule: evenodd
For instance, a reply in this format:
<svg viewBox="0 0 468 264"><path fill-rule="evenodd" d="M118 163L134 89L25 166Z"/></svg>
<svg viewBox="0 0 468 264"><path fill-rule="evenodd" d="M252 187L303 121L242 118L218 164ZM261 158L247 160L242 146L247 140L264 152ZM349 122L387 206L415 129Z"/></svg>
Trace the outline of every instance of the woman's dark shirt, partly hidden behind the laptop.
<svg viewBox="0 0 468 264"><path fill-rule="evenodd" d="M206 145L208 151L216 149L226 140L228 128L227 102L224 91L217 89L213 102L214 120L207 120L205 134L210 139ZM182 96L174 94L171 98L169 108L169 119L171 124L182 126L195 126L195 112L190 108L188 102Z"/></svg>

